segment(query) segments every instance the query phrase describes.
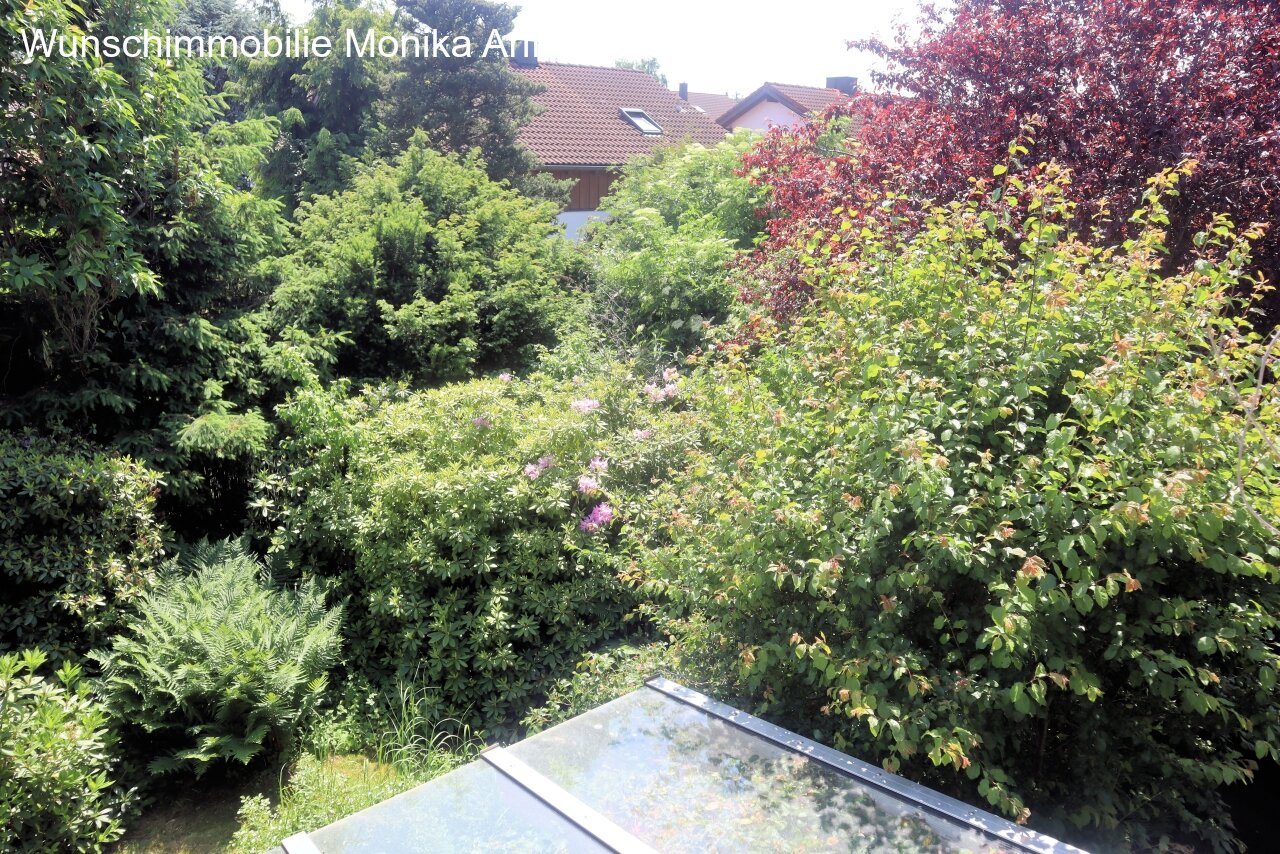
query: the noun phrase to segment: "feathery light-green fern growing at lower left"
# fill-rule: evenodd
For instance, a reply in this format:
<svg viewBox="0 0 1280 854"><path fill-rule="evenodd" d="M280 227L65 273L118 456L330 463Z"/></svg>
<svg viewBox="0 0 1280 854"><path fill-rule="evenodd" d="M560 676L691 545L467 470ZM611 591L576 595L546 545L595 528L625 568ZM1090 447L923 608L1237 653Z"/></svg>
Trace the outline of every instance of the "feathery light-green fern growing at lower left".
<svg viewBox="0 0 1280 854"><path fill-rule="evenodd" d="M242 547L202 544L183 568L95 653L111 714L147 734L156 773L202 773L288 744L324 690L340 634L340 612L311 583L273 588Z"/></svg>

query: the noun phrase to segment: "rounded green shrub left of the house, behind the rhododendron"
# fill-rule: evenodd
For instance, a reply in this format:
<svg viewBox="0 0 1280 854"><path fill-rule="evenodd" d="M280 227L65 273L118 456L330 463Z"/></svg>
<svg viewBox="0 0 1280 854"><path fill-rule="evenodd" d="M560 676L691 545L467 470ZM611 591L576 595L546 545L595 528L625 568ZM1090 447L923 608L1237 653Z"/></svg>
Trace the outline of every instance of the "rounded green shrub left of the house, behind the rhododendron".
<svg viewBox="0 0 1280 854"><path fill-rule="evenodd" d="M417 140L394 164L298 207L269 325L346 333L338 371L419 382L515 366L554 338L554 209Z"/></svg>

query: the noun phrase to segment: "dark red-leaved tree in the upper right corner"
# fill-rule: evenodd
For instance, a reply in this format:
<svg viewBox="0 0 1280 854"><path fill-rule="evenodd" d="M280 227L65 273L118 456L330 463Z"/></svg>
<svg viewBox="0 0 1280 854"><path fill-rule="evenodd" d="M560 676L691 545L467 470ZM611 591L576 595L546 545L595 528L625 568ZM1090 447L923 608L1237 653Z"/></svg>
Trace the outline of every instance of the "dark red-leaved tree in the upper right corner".
<svg viewBox="0 0 1280 854"><path fill-rule="evenodd" d="M956 198L970 175L991 175L1033 118L1028 163L1069 166L1082 218L1102 237L1130 225L1100 210L1133 210L1148 178L1196 160L1167 202L1170 265L1225 213L1274 225L1254 262L1268 279L1280 274L1275 0L955 0L927 5L914 37L850 46L888 61L877 83L892 95L773 131L746 160L773 189L774 219L745 292L776 314L806 296L795 252L855 254L860 229L845 223L860 218L910 228L924 200ZM886 192L897 196L886 204Z"/></svg>

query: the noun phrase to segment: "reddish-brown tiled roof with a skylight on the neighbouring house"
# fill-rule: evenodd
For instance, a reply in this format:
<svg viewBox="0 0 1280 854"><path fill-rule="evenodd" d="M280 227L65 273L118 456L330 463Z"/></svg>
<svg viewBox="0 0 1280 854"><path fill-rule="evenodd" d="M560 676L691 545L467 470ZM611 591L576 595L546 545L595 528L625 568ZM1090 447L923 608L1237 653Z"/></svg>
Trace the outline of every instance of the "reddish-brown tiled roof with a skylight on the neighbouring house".
<svg viewBox="0 0 1280 854"><path fill-rule="evenodd" d="M644 72L562 63L512 65L512 70L547 87L534 96L543 111L520 132L520 140L547 166L617 166L686 137L703 145L724 138L714 117L681 101ZM622 118L622 108L648 113L662 136L637 131Z"/></svg>

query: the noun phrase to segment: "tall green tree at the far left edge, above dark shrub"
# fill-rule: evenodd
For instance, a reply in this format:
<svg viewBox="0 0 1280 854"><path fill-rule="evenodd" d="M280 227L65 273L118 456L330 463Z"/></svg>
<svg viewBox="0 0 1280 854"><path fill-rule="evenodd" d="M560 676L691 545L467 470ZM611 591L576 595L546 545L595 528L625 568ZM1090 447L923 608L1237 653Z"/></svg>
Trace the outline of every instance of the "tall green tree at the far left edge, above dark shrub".
<svg viewBox="0 0 1280 854"><path fill-rule="evenodd" d="M179 430L257 382L237 316L282 237L279 205L247 186L274 128L219 123L197 63L18 61L23 29L133 35L164 3L3 9L0 423L113 443L195 497Z"/></svg>

